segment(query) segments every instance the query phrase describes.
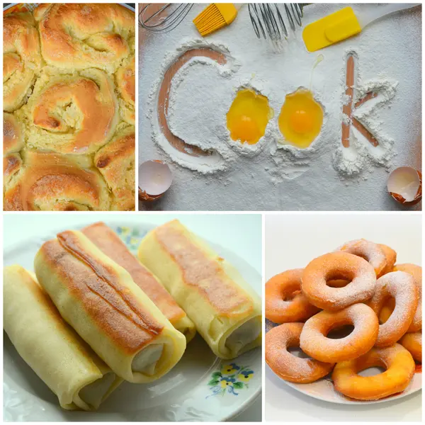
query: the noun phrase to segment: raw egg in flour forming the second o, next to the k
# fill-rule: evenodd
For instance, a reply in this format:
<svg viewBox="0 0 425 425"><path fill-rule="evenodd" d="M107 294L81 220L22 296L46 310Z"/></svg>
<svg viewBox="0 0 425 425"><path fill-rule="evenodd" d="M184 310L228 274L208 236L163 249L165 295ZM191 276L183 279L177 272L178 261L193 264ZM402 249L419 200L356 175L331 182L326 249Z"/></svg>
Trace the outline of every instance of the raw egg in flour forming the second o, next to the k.
<svg viewBox="0 0 425 425"><path fill-rule="evenodd" d="M322 123L322 106L314 100L310 90L297 89L286 95L278 125L288 143L301 149L309 147L319 135Z"/></svg>

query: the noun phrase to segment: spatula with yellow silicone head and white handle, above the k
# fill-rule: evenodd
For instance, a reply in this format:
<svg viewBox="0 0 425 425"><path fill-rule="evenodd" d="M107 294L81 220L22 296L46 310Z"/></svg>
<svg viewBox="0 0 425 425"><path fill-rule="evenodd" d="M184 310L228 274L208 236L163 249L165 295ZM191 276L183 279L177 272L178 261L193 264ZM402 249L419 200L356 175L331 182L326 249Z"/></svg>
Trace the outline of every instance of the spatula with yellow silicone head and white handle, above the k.
<svg viewBox="0 0 425 425"><path fill-rule="evenodd" d="M412 3L385 4L368 11L362 11L357 15L351 7L345 7L307 25L302 31L302 38L307 50L315 52L360 33L365 26L382 18L382 16L418 5Z"/></svg>

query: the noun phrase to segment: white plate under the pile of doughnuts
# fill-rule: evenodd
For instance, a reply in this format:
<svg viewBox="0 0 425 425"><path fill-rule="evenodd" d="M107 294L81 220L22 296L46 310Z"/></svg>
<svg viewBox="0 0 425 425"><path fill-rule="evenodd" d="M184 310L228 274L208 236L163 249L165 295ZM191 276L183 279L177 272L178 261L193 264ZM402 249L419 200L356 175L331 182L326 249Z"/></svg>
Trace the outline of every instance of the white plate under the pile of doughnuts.
<svg viewBox="0 0 425 425"><path fill-rule="evenodd" d="M269 331L272 327L275 327L275 326L278 326L278 325L266 319L266 331ZM274 371L271 368L269 369L274 373ZM376 373L379 373L379 372L380 370L378 368L370 368L367 371L367 375L375 375ZM331 403L337 403L337 404L375 404L375 403L392 402L393 400L400 399L402 397L406 397L407 395L411 395L416 391L420 391L422 388L422 373L416 372L412 381L409 383L409 386L403 392L400 392L397 395L392 395L390 397L385 397L380 400L370 400L370 401L363 400L362 401L362 400L351 399L341 394L340 392L336 391L334 384L332 383L330 375L327 375L324 378L319 379L315 382L311 382L310 384L297 384L295 382L288 382L280 378L279 375L276 375L276 376L286 385L293 387L294 390L302 392L302 394L310 395L310 397L323 400L324 402L331 402Z"/></svg>

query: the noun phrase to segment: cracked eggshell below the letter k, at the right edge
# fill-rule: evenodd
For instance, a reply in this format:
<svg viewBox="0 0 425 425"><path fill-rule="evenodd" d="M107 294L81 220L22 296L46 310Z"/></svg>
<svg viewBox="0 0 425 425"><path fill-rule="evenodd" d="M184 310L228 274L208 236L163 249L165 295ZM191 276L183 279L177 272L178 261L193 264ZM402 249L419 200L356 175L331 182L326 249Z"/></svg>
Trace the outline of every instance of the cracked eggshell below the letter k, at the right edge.
<svg viewBox="0 0 425 425"><path fill-rule="evenodd" d="M422 199L422 174L411 166L400 166L391 172L387 190L403 205L415 205Z"/></svg>

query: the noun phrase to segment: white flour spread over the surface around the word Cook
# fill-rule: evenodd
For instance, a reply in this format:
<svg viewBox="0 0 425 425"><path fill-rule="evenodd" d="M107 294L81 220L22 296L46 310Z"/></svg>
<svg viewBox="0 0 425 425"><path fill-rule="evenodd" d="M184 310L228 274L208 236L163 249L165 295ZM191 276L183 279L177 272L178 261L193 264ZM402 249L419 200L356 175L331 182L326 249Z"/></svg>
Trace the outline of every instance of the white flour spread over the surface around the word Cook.
<svg viewBox="0 0 425 425"><path fill-rule="evenodd" d="M195 16L203 5L194 6ZM336 11L338 5L305 8L303 24ZM359 8L377 7L355 5ZM379 7L379 6L378 6ZM192 18L193 18L192 16ZM189 16L188 16L189 18ZM169 65L193 47L225 53L227 64L204 57L190 60L173 79L168 124L208 157L176 151L159 130L157 92ZM373 89L378 96L353 111L378 140L373 147L351 131L351 147L341 146L346 55L358 57L355 97ZM324 60L312 74L319 54ZM301 30L280 51L256 39L246 7L231 26L200 39L190 19L168 35L148 38L140 55L140 161L169 160L174 184L154 208L176 210L331 210L399 208L385 190L387 170L420 166L415 149L421 117L421 13L399 13L361 35L309 53ZM312 74L312 79L311 79ZM303 86L324 109L322 131L307 149L285 145L278 115L285 95ZM268 97L274 118L256 145L229 137L226 113L236 92L249 87ZM416 145L417 146L417 145ZM415 158L416 157L416 158ZM377 168L379 167L379 168Z"/></svg>

